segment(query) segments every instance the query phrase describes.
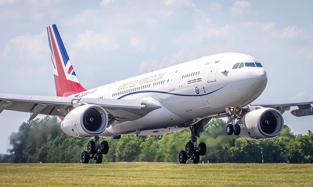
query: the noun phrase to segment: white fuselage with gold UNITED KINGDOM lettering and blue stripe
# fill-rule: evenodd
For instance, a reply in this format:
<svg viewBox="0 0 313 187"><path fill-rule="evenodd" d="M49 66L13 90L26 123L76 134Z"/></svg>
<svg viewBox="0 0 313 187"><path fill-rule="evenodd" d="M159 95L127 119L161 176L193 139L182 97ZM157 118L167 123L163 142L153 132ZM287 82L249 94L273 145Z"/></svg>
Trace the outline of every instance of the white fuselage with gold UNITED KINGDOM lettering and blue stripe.
<svg viewBox="0 0 313 187"><path fill-rule="evenodd" d="M188 127L190 121L216 116L227 107L244 107L264 91L263 67L232 69L259 62L242 53L220 53L169 66L90 89L71 97L137 100L149 98L162 108L133 121L114 121L100 136L160 135ZM187 125L184 123L187 122ZM189 122L189 123L188 123Z"/></svg>

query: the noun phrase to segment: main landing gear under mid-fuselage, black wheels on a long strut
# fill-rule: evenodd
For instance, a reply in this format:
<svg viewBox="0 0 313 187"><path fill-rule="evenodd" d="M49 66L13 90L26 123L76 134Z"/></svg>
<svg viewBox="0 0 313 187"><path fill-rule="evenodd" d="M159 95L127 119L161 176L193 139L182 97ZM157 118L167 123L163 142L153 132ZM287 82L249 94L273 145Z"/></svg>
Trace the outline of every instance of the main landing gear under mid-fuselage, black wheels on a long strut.
<svg viewBox="0 0 313 187"><path fill-rule="evenodd" d="M187 160L191 159L193 164L198 164L200 155L204 156L207 152L207 145L204 142L197 144L197 137L200 138L200 132L203 131L202 121L190 127L191 137L185 146L185 150L181 150L178 154L179 163L185 164ZM197 137L196 137L197 136Z"/></svg>

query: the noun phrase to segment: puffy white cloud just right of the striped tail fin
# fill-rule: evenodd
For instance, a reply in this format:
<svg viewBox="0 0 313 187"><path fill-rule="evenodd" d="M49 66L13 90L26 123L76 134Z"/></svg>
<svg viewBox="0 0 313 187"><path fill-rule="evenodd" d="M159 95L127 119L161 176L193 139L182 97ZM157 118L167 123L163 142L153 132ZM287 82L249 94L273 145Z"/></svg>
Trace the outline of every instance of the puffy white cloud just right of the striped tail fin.
<svg viewBox="0 0 313 187"><path fill-rule="evenodd" d="M70 46L87 52L99 52L119 48L119 45L115 42L114 37L105 32L95 33L94 31L87 31L85 33L78 34L74 37Z"/></svg>

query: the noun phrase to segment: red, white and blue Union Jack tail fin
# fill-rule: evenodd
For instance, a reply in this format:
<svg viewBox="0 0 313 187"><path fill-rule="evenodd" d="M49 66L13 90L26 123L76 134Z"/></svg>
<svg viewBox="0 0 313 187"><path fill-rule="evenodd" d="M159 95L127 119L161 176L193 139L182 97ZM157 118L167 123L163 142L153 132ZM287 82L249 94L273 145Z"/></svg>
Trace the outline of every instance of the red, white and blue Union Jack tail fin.
<svg viewBox="0 0 313 187"><path fill-rule="evenodd" d="M47 27L47 32L57 96L66 97L86 91L76 77L57 26L55 24L50 25Z"/></svg>

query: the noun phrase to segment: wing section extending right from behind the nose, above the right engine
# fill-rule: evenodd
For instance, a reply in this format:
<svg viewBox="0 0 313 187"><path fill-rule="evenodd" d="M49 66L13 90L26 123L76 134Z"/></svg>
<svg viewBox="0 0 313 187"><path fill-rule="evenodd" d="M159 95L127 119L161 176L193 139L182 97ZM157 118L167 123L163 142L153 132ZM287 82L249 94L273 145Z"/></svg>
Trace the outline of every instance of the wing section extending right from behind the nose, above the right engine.
<svg viewBox="0 0 313 187"><path fill-rule="evenodd" d="M291 106L298 106L299 109L304 109L312 107L311 104L313 104L313 98L255 101L250 103L249 106L263 106L274 108L278 110L281 114L283 114L285 111L289 111Z"/></svg>

